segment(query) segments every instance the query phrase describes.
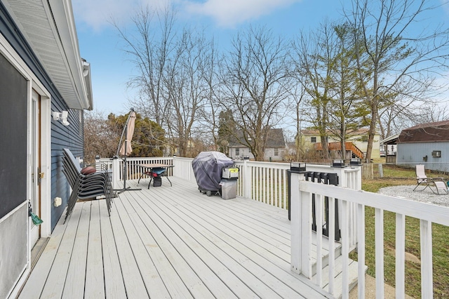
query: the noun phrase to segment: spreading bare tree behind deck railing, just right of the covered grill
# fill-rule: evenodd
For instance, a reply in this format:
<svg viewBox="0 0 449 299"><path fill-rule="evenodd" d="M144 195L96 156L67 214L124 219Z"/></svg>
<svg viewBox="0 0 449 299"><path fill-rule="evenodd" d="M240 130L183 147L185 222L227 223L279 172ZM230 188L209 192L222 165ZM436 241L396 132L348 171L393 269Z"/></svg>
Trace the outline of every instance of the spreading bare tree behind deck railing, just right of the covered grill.
<svg viewBox="0 0 449 299"><path fill-rule="evenodd" d="M286 44L266 27L237 34L226 56L224 107L234 112L234 138L263 161L269 129L283 117L290 71Z"/></svg>

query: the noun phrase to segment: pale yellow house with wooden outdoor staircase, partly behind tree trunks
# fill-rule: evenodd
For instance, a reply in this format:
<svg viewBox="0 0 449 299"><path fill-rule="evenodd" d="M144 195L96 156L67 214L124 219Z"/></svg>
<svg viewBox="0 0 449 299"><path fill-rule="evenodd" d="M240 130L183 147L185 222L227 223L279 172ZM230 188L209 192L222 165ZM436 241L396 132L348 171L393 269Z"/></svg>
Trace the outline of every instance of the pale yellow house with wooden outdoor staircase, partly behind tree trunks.
<svg viewBox="0 0 449 299"><path fill-rule="evenodd" d="M321 143L321 137L318 130L302 130L302 144L304 147L312 149L314 143ZM328 142L340 142L340 140L328 131ZM346 142L352 142L361 152L363 157L366 157L366 150L368 148L368 128L360 128L355 131L348 131ZM380 135L374 135L373 152L371 158L380 158Z"/></svg>

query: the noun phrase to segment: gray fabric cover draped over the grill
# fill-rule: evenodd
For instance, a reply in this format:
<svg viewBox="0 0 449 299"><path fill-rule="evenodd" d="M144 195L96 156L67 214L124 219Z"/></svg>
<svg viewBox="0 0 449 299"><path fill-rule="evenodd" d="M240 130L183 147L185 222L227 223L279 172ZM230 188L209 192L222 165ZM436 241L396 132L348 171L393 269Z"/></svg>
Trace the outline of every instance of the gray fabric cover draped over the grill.
<svg viewBox="0 0 449 299"><path fill-rule="evenodd" d="M222 152L200 152L192 161L199 189L220 190L222 168L232 165L234 165L234 161Z"/></svg>

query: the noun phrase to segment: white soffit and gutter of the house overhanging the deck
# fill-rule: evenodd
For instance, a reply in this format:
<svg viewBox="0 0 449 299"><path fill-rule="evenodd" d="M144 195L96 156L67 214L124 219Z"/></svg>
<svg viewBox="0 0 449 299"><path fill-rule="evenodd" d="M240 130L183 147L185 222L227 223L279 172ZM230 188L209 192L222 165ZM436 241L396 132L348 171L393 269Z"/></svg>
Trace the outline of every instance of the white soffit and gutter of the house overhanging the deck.
<svg viewBox="0 0 449 299"><path fill-rule="evenodd" d="M91 69L81 59L70 0L2 0L69 108L92 109Z"/></svg>

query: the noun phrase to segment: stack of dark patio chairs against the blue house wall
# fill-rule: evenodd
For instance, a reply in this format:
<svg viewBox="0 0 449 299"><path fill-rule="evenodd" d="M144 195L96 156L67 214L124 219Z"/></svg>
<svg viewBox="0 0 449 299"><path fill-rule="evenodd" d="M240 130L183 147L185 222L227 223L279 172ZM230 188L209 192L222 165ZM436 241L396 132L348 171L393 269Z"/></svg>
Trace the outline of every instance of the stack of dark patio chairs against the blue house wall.
<svg viewBox="0 0 449 299"><path fill-rule="evenodd" d="M62 173L64 173L72 193L67 202L67 212L65 220L72 213L72 210L78 199L91 199L104 196L107 204L107 213L111 215L112 198L115 197L111 184L111 173L107 170L105 164L95 164L86 168L81 168L72 152L68 149L63 150Z"/></svg>

